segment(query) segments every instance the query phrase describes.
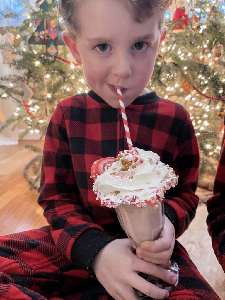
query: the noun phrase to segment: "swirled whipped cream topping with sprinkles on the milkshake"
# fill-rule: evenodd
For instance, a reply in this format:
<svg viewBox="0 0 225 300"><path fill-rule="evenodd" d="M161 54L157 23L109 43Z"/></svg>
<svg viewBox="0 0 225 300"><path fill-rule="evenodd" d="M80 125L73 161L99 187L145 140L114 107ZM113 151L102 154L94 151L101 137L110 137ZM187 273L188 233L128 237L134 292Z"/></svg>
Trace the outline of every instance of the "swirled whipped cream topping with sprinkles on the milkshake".
<svg viewBox="0 0 225 300"><path fill-rule="evenodd" d="M101 205L158 206L164 193L178 183L178 176L152 151L132 148L121 151L116 161L105 167L93 185Z"/></svg>

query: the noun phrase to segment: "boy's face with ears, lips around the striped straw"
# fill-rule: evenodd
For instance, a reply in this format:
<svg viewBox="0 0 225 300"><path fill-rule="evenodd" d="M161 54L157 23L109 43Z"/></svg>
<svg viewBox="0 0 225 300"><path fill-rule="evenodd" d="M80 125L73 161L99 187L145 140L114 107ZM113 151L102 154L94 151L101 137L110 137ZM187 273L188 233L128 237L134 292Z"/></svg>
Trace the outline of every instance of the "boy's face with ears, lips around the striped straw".
<svg viewBox="0 0 225 300"><path fill-rule="evenodd" d="M116 89L125 106L145 93L164 32L158 16L143 23L133 20L121 0L85 0L79 5L76 42L63 38L78 63L82 63L91 89L110 106L119 108Z"/></svg>

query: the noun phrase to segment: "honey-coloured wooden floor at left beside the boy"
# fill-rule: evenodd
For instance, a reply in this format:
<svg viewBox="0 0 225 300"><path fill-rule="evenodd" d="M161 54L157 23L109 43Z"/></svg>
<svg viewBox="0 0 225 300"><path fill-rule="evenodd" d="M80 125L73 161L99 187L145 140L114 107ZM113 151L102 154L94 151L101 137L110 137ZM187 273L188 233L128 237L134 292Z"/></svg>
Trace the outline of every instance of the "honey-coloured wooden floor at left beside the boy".
<svg viewBox="0 0 225 300"><path fill-rule="evenodd" d="M39 228L47 224L38 205L38 192L30 190L23 176L35 152L26 145L43 148L42 141L19 141L16 146L0 146L0 235Z"/></svg>

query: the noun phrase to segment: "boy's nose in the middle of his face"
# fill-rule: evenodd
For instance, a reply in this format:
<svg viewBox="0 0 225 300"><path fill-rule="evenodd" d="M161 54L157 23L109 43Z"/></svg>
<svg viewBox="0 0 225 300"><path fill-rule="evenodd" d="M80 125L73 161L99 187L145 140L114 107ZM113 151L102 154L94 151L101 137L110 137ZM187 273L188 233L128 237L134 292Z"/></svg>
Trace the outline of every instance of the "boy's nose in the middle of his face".
<svg viewBox="0 0 225 300"><path fill-rule="evenodd" d="M126 55L117 55L113 60L112 73L121 78L131 76L131 61Z"/></svg>

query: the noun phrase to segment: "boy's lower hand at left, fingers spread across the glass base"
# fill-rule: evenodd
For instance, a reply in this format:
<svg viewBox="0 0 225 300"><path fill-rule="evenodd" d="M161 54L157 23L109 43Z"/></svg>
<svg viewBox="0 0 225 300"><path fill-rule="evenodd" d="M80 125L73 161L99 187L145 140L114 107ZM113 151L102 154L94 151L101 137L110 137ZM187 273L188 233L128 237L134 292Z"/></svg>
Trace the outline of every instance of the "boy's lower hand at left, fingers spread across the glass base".
<svg viewBox="0 0 225 300"><path fill-rule="evenodd" d="M133 288L156 299L169 296L167 290L149 283L138 275L139 272L151 274L170 284L176 283L173 273L138 258L132 252L129 239L117 239L104 246L95 256L92 268L99 282L116 300L140 299Z"/></svg>

